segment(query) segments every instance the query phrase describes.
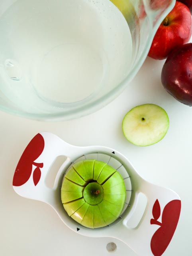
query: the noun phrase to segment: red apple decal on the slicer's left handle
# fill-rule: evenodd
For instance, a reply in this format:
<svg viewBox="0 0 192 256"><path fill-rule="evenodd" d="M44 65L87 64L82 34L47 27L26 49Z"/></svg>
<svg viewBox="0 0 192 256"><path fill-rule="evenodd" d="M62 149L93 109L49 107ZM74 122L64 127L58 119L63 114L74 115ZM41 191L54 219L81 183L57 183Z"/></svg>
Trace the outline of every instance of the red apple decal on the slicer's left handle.
<svg viewBox="0 0 192 256"><path fill-rule="evenodd" d="M22 186L29 180L33 165L36 166L33 172L33 182L35 186L41 178L41 170L43 163L35 163L34 161L41 155L45 146L43 136L37 134L25 148L18 165L16 167L13 186Z"/></svg>

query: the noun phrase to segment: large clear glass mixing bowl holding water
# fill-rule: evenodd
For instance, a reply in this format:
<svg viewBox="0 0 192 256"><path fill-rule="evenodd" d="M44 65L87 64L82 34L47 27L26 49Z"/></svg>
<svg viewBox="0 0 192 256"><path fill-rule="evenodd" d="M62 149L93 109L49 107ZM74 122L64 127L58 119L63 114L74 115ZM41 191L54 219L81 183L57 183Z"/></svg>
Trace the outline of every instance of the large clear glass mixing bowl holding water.
<svg viewBox="0 0 192 256"><path fill-rule="evenodd" d="M1 0L0 109L56 121L102 108L138 72L174 4Z"/></svg>

